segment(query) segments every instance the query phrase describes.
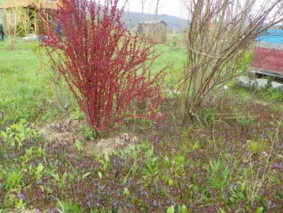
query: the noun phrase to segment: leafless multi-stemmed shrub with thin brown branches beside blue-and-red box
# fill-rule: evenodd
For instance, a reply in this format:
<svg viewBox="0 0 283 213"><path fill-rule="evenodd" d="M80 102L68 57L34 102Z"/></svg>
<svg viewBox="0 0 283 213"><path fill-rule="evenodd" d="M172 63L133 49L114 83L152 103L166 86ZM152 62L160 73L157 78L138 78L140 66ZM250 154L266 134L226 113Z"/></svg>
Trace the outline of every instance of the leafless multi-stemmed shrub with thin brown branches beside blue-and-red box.
<svg viewBox="0 0 283 213"><path fill-rule="evenodd" d="M249 69L255 38L281 23L282 0L182 0L187 65L179 90L182 116L197 117L217 87Z"/></svg>

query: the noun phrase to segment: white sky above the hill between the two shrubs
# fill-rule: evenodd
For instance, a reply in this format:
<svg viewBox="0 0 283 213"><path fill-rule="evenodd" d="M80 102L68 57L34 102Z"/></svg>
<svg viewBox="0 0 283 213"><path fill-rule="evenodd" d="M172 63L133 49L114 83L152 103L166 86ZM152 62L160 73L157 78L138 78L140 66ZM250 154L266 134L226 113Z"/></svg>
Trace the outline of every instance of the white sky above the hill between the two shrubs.
<svg viewBox="0 0 283 213"><path fill-rule="evenodd" d="M145 0L145 13L155 13L155 3L156 0ZM123 4L123 1L120 1ZM170 16L177 16L180 17L180 9L179 9L179 0L161 0L160 6L158 9L159 14L167 14ZM128 10L131 12L141 12L142 11L142 4L141 0L128 0L128 4L126 6L126 11Z"/></svg>

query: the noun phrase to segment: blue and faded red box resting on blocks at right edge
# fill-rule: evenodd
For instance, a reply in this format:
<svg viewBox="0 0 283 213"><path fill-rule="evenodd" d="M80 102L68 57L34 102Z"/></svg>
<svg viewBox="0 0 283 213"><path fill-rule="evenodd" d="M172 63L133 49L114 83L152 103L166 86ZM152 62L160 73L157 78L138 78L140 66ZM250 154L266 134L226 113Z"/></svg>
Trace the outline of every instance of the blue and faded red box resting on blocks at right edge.
<svg viewBox="0 0 283 213"><path fill-rule="evenodd" d="M257 38L252 67L257 74L283 78L282 30L268 30Z"/></svg>

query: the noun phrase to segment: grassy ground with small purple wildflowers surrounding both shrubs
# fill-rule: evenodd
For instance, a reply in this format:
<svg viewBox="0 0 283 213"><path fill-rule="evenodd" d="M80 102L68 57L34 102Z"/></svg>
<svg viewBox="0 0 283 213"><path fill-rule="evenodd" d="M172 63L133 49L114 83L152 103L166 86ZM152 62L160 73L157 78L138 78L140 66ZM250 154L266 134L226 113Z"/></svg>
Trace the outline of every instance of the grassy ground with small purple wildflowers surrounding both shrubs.
<svg viewBox="0 0 283 213"><path fill-rule="evenodd" d="M201 122L168 99L162 124L127 121L97 141L76 104L52 104L36 45L0 43L0 212L283 211L280 92L230 82ZM185 51L158 50L153 69L174 62L172 84Z"/></svg>

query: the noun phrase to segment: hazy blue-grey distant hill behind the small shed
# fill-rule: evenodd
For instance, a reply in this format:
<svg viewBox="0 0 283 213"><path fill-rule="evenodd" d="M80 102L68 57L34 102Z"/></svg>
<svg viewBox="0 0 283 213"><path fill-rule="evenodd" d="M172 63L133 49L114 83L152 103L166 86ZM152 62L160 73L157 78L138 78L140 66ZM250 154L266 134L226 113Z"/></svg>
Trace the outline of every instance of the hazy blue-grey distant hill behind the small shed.
<svg viewBox="0 0 283 213"><path fill-rule="evenodd" d="M130 18L129 18L130 17ZM154 21L155 15L154 14L144 14L145 21ZM158 20L162 20L168 25L168 31L176 31L176 33L181 32L182 26L186 24L186 20L182 18L178 18L176 16L168 16L166 14L159 14ZM135 28L138 26L138 23L143 21L143 13L137 13L137 12L127 12L125 11L122 16L122 20L125 22L126 26L129 26L129 20L131 20L131 28Z"/></svg>

